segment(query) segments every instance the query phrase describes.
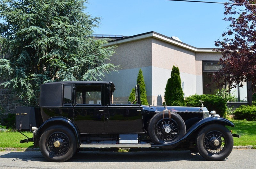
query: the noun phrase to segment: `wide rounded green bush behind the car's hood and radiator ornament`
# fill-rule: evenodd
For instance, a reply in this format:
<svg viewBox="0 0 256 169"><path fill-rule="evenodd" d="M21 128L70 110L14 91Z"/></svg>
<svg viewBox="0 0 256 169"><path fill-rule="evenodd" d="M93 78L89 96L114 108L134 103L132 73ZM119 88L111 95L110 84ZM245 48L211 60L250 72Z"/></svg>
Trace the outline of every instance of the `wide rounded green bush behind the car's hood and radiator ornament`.
<svg viewBox="0 0 256 169"><path fill-rule="evenodd" d="M192 95L186 97L185 102L187 106L190 107L201 107L201 102L203 100L204 107L206 107L209 112L212 110L216 111L216 114L219 114L222 117L225 117L225 112L227 111L227 102L216 95L212 94L203 94L203 95Z"/></svg>

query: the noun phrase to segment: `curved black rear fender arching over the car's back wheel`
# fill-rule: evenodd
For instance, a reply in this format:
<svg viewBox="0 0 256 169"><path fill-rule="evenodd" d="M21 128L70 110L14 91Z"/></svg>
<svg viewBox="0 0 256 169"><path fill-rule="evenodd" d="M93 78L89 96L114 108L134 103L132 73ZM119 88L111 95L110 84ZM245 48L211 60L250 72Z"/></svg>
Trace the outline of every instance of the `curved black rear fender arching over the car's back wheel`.
<svg viewBox="0 0 256 169"><path fill-rule="evenodd" d="M36 133L33 136L33 141L35 143L32 149L39 146L39 140L41 135L44 133L45 129L47 129L52 125L63 125L70 128L74 132L74 135L76 137L77 147L79 147L79 137L78 137L79 129L77 128L76 124L66 117L55 116L44 121L44 123L37 129Z"/></svg>

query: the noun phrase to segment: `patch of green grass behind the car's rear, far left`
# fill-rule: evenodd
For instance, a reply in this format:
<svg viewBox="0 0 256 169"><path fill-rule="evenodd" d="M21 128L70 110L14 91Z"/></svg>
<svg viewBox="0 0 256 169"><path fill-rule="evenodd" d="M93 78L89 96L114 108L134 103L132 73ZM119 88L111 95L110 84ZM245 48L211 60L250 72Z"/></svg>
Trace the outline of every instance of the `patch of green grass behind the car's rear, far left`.
<svg viewBox="0 0 256 169"><path fill-rule="evenodd" d="M33 137L31 132L22 132L29 138ZM17 131L1 131L0 132L0 147L1 148L28 148L33 146L33 142L20 143L20 140L26 139L25 136Z"/></svg>

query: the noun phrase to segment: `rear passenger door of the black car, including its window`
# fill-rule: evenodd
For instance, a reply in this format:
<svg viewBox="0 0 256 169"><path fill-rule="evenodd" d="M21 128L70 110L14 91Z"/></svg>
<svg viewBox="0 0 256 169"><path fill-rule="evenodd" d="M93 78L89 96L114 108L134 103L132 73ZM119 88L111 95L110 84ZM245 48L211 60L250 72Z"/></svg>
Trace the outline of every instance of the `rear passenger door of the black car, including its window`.
<svg viewBox="0 0 256 169"><path fill-rule="evenodd" d="M74 121L81 133L104 133L106 107L102 84L75 85Z"/></svg>

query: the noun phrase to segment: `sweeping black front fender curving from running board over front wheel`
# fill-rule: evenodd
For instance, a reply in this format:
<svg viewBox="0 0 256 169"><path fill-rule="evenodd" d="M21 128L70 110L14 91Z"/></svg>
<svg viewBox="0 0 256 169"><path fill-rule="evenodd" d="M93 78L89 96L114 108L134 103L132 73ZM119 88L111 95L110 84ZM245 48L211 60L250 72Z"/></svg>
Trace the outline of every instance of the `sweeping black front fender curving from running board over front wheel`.
<svg viewBox="0 0 256 169"><path fill-rule="evenodd" d="M231 126L231 127L235 127L235 125L229 121L228 119L225 119L223 117L207 117L204 118L200 121L198 121L196 124L194 124L190 129L188 129L187 133L180 138L179 140L172 142L172 143L165 143L165 144L152 144L151 147L176 147L177 145L179 145L184 139L188 138L189 136L191 136L193 133L195 133L198 129L202 128L203 126L207 125L207 124L222 124L223 126Z"/></svg>

